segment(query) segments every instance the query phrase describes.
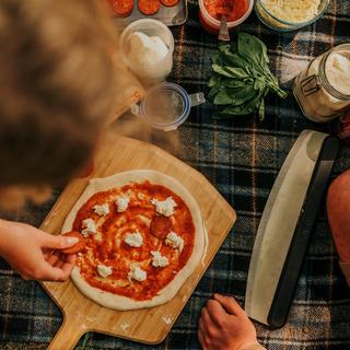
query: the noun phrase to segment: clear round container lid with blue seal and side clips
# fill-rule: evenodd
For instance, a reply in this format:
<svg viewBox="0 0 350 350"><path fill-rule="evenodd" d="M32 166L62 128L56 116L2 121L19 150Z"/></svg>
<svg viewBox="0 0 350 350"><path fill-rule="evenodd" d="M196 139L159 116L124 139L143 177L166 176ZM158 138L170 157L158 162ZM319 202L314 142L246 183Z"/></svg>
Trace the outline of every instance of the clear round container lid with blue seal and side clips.
<svg viewBox="0 0 350 350"><path fill-rule="evenodd" d="M151 127L170 131L177 129L188 117L190 107L206 102L203 93L189 95L174 83L162 83L151 88L131 113L143 118Z"/></svg>

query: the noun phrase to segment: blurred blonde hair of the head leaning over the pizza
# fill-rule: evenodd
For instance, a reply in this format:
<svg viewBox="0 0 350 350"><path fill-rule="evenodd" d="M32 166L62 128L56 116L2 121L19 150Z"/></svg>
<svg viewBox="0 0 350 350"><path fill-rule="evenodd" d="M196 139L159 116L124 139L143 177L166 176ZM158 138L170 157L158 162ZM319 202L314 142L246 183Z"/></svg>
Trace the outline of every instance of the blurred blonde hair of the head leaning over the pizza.
<svg viewBox="0 0 350 350"><path fill-rule="evenodd" d="M116 94L101 3L0 1L0 196L62 184L89 162Z"/></svg>

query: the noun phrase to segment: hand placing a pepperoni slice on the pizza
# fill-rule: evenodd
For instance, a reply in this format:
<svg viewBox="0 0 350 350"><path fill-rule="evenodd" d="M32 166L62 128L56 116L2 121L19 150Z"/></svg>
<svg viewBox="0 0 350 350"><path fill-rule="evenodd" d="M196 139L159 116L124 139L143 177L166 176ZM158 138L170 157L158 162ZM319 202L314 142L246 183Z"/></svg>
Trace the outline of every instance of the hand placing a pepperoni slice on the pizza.
<svg viewBox="0 0 350 350"><path fill-rule="evenodd" d="M60 253L75 237L54 236L31 225L0 220L0 255L25 280L65 281L77 256Z"/></svg>

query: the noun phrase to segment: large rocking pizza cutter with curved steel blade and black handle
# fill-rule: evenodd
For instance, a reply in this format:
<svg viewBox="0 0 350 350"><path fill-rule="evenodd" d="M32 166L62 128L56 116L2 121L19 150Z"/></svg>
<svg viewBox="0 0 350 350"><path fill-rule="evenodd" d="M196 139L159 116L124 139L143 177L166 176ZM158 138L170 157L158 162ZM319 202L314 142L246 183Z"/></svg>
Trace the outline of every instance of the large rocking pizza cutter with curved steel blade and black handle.
<svg viewBox="0 0 350 350"><path fill-rule="evenodd" d="M245 311L272 328L287 320L338 150L337 138L304 130L267 200L250 259Z"/></svg>

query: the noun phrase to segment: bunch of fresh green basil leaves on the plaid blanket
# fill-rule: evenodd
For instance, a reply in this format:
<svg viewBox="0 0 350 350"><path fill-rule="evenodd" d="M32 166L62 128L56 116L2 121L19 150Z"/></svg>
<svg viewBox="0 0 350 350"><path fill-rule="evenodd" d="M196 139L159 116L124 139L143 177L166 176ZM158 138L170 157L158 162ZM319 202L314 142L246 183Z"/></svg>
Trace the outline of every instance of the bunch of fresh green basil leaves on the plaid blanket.
<svg viewBox="0 0 350 350"><path fill-rule="evenodd" d="M282 98L287 96L268 67L266 45L253 35L238 33L235 48L220 43L219 52L211 59L209 98L225 106L220 115L248 115L257 110L262 120L265 96L270 91Z"/></svg>

